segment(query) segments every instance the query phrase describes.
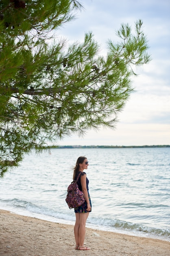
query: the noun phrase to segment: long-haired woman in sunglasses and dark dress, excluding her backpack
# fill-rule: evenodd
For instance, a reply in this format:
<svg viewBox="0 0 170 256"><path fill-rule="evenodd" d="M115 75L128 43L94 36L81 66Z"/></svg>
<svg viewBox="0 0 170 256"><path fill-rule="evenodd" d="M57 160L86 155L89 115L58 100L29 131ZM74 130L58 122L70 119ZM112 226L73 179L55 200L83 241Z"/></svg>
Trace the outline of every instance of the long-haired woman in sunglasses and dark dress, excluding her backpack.
<svg viewBox="0 0 170 256"><path fill-rule="evenodd" d="M85 202L83 205L74 208L74 212L76 214L76 222L74 225L74 236L76 240L77 250L89 250L87 246L84 245L85 240L85 224L86 220L89 216L89 212L92 209L92 204L89 196L89 180L86 177L86 173L83 172L85 169L87 170L88 161L86 157L78 157L76 166L74 167L73 180L76 180L79 173L81 173L78 179L78 188L83 191L85 195Z"/></svg>

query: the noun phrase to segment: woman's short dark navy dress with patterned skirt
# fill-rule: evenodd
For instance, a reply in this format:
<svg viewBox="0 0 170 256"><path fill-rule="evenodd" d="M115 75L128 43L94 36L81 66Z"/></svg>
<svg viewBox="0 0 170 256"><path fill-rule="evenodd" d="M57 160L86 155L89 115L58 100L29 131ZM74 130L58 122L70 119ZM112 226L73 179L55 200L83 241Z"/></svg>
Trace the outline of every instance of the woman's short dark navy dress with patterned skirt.
<svg viewBox="0 0 170 256"><path fill-rule="evenodd" d="M77 176L78 176L79 173L81 173L81 172L78 172ZM85 174L86 174L85 172L82 172L81 175L85 175ZM79 179L77 181L77 184L78 184L78 189L82 191L81 175L80 175L80 177L79 177ZM77 178L77 176L76 176L76 178ZM86 187L87 187L87 192L88 192L88 195L89 195L89 187L88 187L88 185L89 185L89 180L86 177ZM91 203L91 200L90 200L90 195L89 195L89 202L90 202L90 206L91 206L91 210L90 211L92 211L92 203ZM82 204L81 206L74 208L74 212L75 213L87 213L88 211L86 209L87 209L87 202L85 201L84 204Z"/></svg>

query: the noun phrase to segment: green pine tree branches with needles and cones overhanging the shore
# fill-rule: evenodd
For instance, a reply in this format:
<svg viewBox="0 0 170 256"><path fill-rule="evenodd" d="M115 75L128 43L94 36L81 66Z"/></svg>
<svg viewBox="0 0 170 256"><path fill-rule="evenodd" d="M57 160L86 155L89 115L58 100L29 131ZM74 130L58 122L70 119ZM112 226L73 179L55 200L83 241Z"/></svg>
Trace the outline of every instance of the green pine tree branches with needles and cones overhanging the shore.
<svg viewBox="0 0 170 256"><path fill-rule="evenodd" d="M0 175L25 153L89 128L114 128L131 91L134 67L148 63L142 21L108 41L107 56L91 32L83 43L56 42L52 32L74 18L75 0L0 2Z"/></svg>

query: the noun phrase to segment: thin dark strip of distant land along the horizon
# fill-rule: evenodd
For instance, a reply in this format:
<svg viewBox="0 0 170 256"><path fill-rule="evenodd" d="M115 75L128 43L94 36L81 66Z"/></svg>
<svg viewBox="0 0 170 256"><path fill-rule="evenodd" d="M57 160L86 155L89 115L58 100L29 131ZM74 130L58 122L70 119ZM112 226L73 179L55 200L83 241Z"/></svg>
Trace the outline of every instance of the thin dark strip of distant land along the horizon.
<svg viewBox="0 0 170 256"><path fill-rule="evenodd" d="M81 145L72 145L72 146L52 146L50 148L170 148L170 145L144 145L144 146L81 146Z"/></svg>

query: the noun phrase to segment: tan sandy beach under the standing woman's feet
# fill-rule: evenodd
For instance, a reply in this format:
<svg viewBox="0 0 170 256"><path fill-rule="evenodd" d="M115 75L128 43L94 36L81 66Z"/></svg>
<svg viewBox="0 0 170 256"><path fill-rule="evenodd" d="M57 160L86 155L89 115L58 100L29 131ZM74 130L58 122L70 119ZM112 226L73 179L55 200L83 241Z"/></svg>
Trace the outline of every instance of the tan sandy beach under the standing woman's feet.
<svg viewBox="0 0 170 256"><path fill-rule="evenodd" d="M90 251L74 249L72 225L0 210L0 256L170 256L170 242L86 229Z"/></svg>

